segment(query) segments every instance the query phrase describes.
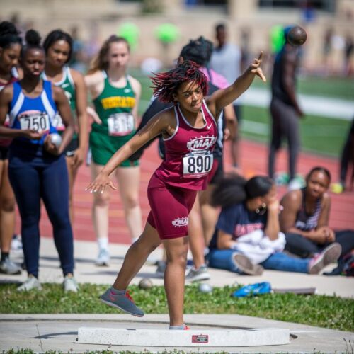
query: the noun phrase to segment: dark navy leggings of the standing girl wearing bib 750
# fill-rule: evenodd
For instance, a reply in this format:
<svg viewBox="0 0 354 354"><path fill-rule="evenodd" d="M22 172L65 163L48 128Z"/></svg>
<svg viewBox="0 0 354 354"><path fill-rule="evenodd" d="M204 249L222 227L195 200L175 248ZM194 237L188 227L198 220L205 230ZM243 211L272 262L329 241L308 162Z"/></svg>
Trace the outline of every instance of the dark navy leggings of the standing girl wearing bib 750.
<svg viewBox="0 0 354 354"><path fill-rule="evenodd" d="M69 183L64 155L34 164L18 157L10 159L8 176L21 215L21 235L28 274L38 277L40 251L40 200L53 227L55 246L64 275L73 273L72 225L69 219Z"/></svg>

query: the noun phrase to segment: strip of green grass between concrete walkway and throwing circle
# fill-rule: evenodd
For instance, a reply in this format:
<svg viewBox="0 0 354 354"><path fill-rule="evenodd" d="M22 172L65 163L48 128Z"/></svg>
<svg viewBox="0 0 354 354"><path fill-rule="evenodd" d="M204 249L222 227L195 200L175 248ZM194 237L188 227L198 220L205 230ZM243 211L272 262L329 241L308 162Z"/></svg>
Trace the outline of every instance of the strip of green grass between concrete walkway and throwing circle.
<svg viewBox="0 0 354 354"><path fill-rule="evenodd" d="M64 294L62 286L45 284L41 292L21 293L16 285L0 286L1 314L115 314L117 310L98 301L106 285L82 284L79 294ZM212 295L185 288L185 314L242 314L264 319L354 331L354 299L324 295L268 294L234 298L237 287L215 287ZM130 287L135 302L147 314L166 314L164 287L141 290Z"/></svg>

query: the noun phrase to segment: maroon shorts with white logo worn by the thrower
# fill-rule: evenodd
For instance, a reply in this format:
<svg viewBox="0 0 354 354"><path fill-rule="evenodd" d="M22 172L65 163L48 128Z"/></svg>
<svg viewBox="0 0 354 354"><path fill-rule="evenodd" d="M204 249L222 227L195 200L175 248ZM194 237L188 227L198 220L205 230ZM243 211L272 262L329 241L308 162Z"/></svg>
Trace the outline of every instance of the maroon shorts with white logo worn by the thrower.
<svg viewBox="0 0 354 354"><path fill-rule="evenodd" d="M147 187L151 211L147 217L160 239L176 239L188 235L188 215L198 190L172 187L155 175Z"/></svg>

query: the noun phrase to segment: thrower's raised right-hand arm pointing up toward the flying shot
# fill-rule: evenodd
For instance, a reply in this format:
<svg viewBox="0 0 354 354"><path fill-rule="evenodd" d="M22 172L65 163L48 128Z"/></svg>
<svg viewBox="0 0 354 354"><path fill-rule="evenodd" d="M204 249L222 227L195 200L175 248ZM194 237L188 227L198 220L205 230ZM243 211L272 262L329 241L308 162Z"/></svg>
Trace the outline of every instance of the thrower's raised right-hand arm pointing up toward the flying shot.
<svg viewBox="0 0 354 354"><path fill-rule="evenodd" d="M234 81L234 84L226 89L215 91L215 93L210 96L208 107L212 113L215 113L215 117L218 117L224 107L234 102L236 98L239 98L239 96L251 86L254 76L257 75L264 82L266 81L261 69L262 58L263 52L260 53L258 59L253 60L246 71Z"/></svg>

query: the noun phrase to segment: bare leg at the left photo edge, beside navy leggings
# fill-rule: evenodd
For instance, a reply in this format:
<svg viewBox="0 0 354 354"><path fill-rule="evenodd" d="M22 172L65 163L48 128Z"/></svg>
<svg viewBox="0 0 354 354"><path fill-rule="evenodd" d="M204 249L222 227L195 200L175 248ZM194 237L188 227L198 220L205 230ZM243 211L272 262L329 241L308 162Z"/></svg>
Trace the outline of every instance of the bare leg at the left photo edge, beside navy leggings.
<svg viewBox="0 0 354 354"><path fill-rule="evenodd" d="M0 245L8 253L15 232L15 195L8 180L8 160L0 161Z"/></svg>

